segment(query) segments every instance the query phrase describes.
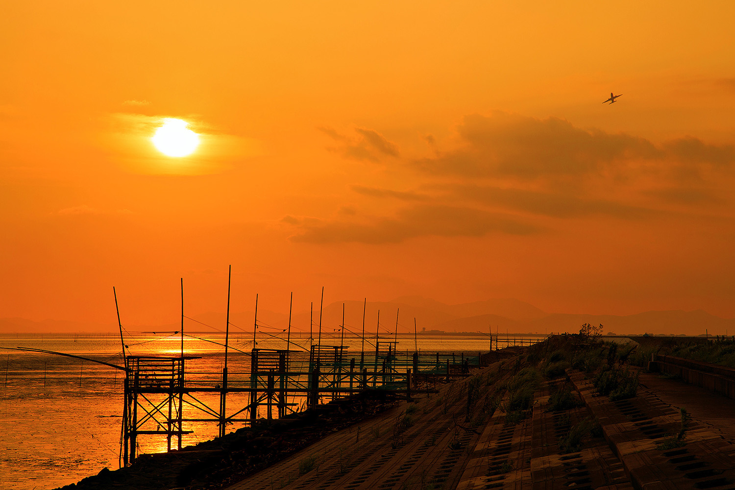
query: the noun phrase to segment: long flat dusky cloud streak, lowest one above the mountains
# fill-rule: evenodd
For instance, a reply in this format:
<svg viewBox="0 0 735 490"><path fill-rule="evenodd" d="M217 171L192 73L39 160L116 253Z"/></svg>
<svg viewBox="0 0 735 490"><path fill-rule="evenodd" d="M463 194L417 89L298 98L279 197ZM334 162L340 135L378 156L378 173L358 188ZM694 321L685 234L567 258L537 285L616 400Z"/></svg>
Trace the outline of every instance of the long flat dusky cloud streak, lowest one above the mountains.
<svg viewBox="0 0 735 490"><path fill-rule="evenodd" d="M490 233L527 235L537 226L516 217L463 206L419 205L400 209L395 217L370 223L309 220L290 239L294 242L366 244L398 243L413 237L482 237Z"/></svg>

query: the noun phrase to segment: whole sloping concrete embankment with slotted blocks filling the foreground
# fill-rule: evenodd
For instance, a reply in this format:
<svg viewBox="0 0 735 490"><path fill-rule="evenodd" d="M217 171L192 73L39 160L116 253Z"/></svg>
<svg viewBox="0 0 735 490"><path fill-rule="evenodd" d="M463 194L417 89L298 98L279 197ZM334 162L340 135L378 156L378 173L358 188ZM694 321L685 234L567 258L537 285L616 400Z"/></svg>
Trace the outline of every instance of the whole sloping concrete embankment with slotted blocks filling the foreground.
<svg viewBox="0 0 735 490"><path fill-rule="evenodd" d="M699 389L687 396L691 387L641 373L638 396L612 402L595 394L584 373L569 370L568 378L542 381L532 408L518 419L517 412L504 410L511 396L499 388L522 369L523 364L510 360L478 370L438 395L417 399L411 414L406 405L396 407L229 490L735 488L735 451L728 433L718 431L712 423L717 420L695 403L700 395L716 395ZM470 403L467 417L466 394L473 383L487 390L481 389L477 406ZM584 403L551 411L551 396L570 388ZM719 403L720 411L734 408L724 397L706 400ZM665 449L661 444L681 425L681 402L691 407L692 423L681 447ZM397 438L396 428L406 414L415 419ZM581 437L577 446L564 445L570 433L595 418L598 429Z"/></svg>

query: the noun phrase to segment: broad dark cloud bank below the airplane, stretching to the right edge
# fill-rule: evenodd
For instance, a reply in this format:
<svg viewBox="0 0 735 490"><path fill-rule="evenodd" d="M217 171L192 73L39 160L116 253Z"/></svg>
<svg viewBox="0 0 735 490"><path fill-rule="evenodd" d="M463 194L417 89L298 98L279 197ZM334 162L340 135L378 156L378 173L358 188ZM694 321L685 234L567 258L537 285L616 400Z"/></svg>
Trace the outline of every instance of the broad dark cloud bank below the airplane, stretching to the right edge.
<svg viewBox="0 0 735 490"><path fill-rule="evenodd" d="M656 193L644 192L647 188L689 189L692 181L697 181L700 196L696 201L704 202L703 194L715 192L723 185L723 177L735 175L734 145L706 143L696 137L654 144L628 134L581 129L558 118L537 119L498 111L489 116L466 116L457 134L456 148L415 159L409 165L431 179L470 184L487 179L502 184L503 189L487 187L482 191L486 195L474 192L470 197L550 215L599 212L623 217L645 213L642 208L616 203L620 198L614 194L620 193L610 187L613 181L648 197ZM591 182L606 189L610 198L584 198ZM529 186L540 190L532 192ZM576 194L570 194L570 189ZM659 196L664 198L665 193Z"/></svg>

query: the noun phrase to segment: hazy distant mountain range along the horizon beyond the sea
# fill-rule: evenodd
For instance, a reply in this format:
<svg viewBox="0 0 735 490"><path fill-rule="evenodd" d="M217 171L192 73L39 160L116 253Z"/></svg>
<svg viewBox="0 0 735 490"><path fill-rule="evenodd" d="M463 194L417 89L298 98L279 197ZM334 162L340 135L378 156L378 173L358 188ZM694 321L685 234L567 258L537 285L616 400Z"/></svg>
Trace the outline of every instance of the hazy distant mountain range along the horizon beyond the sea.
<svg viewBox="0 0 735 490"><path fill-rule="evenodd" d="M339 334L342 325L343 303L345 328L348 332L362 332L363 302L337 301L324 306L321 325L324 338ZM398 331L413 332L414 318L417 331L507 331L511 334L577 332L583 323L603 325L603 333L616 334L704 334L735 335L735 319L716 317L703 310L696 311L645 311L626 316L609 314L546 314L537 307L512 298L490 299L448 305L437 300L418 296L404 296L392 301L368 301L365 307L365 333L374 334L380 311L380 331L383 334L395 331L398 313ZM252 332L254 311L240 311L230 314L231 332ZM224 331L226 314L209 311L191 315L194 320L184 320L187 331ZM288 314L276 311L258 311L259 331L262 334L279 334L288 328ZM127 331L176 331L180 323L169 325L127 325ZM293 332L309 332L309 312L293 314ZM314 336L319 330L319 306L312 313ZM116 324L79 323L63 320L43 320L35 322L23 318L0 319L0 333L62 333L62 332L116 332Z"/></svg>

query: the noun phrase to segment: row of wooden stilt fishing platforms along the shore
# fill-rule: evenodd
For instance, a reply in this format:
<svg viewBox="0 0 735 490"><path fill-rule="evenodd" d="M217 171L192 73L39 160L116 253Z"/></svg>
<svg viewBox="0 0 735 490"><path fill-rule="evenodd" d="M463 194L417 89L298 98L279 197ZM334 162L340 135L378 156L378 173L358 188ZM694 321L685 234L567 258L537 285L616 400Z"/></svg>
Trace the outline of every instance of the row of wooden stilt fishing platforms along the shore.
<svg viewBox="0 0 735 490"><path fill-rule="evenodd" d="M315 408L362 390L381 390L410 400L416 392L435 392L437 383L463 378L483 365L488 354L399 352L396 342L377 342L376 353L350 357L347 347L313 345L308 360L293 350L251 350L249 372L186 374L196 357L127 356L123 406L123 461L135 460L140 436L165 436L168 450L181 449L185 422L212 422L219 435L234 422L250 425ZM382 348L381 348L382 347ZM216 377L215 377L216 376ZM216 381L215 381L216 380ZM199 394L218 394L219 407ZM228 406L228 395L245 395L243 405Z"/></svg>

